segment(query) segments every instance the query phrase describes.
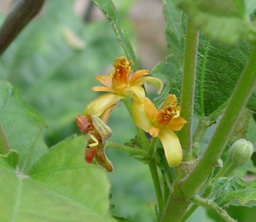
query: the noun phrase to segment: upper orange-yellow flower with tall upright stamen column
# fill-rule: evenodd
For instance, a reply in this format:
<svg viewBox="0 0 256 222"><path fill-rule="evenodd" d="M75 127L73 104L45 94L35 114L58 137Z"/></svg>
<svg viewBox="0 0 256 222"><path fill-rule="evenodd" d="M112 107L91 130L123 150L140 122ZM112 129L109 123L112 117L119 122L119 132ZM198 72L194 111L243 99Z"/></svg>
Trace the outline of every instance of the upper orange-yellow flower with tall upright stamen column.
<svg viewBox="0 0 256 222"><path fill-rule="evenodd" d="M138 70L131 76L131 65L132 61L125 57L116 58L113 63L114 69L109 75L96 76L96 79L104 86L95 86L92 90L112 92L123 97L135 94L142 99L145 97L145 92L141 85L149 82L159 88L158 93L161 92L163 83L160 79L151 76L143 77L149 73L147 70Z"/></svg>

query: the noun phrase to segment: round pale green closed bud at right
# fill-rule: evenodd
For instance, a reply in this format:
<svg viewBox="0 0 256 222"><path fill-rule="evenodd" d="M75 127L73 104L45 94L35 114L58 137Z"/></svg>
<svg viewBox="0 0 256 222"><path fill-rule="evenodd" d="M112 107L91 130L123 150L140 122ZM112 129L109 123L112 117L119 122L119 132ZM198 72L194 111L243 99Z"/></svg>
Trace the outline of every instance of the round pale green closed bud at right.
<svg viewBox="0 0 256 222"><path fill-rule="evenodd" d="M244 165L251 158L252 152L253 146L251 142L240 139L234 142L229 148L228 158L233 165L239 167Z"/></svg>

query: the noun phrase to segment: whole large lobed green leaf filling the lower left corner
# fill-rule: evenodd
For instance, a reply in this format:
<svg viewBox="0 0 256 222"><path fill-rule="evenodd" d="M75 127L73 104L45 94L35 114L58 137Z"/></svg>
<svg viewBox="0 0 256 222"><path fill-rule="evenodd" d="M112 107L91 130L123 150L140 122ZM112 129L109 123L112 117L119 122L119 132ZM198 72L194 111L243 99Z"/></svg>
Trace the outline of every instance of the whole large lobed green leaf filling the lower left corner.
<svg viewBox="0 0 256 222"><path fill-rule="evenodd" d="M0 139L13 149L0 154L1 221L114 221L105 171L84 161L86 137L48 149L39 125L44 121L17 88L2 80L0 92Z"/></svg>

